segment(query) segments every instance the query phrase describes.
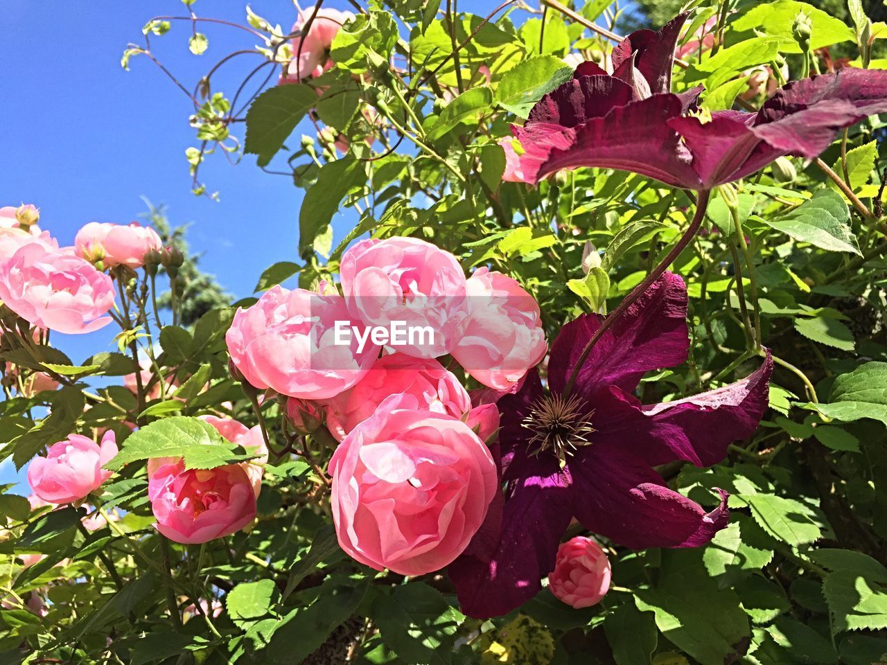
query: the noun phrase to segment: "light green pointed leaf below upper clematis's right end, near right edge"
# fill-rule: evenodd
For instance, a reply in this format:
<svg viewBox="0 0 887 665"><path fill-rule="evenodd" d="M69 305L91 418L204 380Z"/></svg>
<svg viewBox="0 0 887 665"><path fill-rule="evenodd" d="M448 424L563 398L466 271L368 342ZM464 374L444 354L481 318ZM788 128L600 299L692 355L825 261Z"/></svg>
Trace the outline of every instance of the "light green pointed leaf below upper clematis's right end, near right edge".
<svg viewBox="0 0 887 665"><path fill-rule="evenodd" d="M860 246L850 230L850 211L840 194L828 189L817 190L800 206L779 219L763 218L764 222L801 242L809 242L831 252L860 254Z"/></svg>

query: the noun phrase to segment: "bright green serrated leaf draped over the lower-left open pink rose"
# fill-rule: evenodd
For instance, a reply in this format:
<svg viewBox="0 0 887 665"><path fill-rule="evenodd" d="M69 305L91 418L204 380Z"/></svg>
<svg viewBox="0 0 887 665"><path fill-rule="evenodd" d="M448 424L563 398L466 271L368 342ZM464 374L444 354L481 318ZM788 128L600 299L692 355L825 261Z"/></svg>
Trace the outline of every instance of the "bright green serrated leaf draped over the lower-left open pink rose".
<svg viewBox="0 0 887 665"><path fill-rule="evenodd" d="M244 462L255 455L226 441L203 420L173 416L139 427L105 468L117 471L130 462L150 458L184 458L186 469L212 469Z"/></svg>

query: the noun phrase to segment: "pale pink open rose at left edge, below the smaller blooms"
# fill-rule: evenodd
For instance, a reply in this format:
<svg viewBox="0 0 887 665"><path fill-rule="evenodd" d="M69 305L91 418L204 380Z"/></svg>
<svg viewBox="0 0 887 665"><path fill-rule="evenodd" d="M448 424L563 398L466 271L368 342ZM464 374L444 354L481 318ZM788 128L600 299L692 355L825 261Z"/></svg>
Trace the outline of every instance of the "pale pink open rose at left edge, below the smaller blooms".
<svg viewBox="0 0 887 665"><path fill-rule="evenodd" d="M114 285L90 262L40 243L0 262L0 300L38 328L92 332L111 323Z"/></svg>

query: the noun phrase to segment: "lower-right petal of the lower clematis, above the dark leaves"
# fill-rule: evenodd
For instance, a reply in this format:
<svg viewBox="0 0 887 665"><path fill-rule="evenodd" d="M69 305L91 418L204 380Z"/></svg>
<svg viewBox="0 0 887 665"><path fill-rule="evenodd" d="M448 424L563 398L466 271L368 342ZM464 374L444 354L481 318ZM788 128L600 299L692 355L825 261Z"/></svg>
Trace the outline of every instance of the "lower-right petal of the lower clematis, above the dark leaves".
<svg viewBox="0 0 887 665"><path fill-rule="evenodd" d="M666 487L643 459L614 446L588 446L569 461L568 468L576 519L593 533L634 550L698 547L726 527L729 519L726 492L718 490L720 505L705 512Z"/></svg>

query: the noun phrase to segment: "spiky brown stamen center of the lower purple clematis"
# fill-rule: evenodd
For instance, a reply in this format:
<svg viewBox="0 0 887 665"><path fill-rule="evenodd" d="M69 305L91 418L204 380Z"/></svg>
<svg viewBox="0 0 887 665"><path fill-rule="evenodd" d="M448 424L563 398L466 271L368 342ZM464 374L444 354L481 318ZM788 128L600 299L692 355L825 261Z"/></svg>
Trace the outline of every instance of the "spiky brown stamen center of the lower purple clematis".
<svg viewBox="0 0 887 665"><path fill-rule="evenodd" d="M550 452L561 464L566 462L578 448L592 443L589 436L594 432L593 413L577 395L540 398L522 422L531 433L531 454Z"/></svg>

